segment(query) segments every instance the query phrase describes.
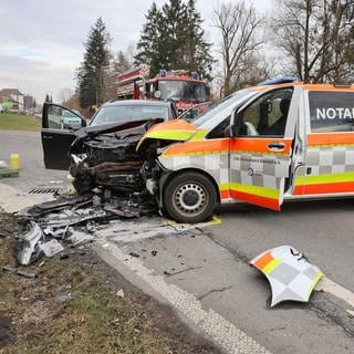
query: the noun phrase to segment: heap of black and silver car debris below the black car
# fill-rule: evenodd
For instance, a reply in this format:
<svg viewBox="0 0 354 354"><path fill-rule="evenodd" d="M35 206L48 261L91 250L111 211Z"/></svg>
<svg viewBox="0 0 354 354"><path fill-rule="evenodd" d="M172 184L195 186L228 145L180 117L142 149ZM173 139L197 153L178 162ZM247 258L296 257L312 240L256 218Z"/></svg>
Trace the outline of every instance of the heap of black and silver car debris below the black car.
<svg viewBox="0 0 354 354"><path fill-rule="evenodd" d="M18 212L22 223L30 223L30 231L19 237L15 243L18 262L22 266L39 260L43 253L52 257L64 250L59 240L71 242L73 247L92 242L98 225L113 219L137 218L150 215L156 207L134 202L131 198L111 195L100 197L100 190L84 196L60 195L53 201L28 207ZM102 194L102 191L101 191Z"/></svg>

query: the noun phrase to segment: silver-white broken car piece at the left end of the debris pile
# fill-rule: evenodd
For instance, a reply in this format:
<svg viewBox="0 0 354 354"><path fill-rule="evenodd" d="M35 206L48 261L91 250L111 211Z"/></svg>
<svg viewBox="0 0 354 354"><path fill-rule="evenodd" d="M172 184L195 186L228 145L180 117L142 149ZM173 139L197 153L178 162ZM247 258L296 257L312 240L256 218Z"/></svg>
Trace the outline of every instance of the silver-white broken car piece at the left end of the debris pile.
<svg viewBox="0 0 354 354"><path fill-rule="evenodd" d="M43 252L39 247L41 239L43 239L41 227L31 221L31 230L19 238L15 243L17 259L20 264L28 266L42 256Z"/></svg>

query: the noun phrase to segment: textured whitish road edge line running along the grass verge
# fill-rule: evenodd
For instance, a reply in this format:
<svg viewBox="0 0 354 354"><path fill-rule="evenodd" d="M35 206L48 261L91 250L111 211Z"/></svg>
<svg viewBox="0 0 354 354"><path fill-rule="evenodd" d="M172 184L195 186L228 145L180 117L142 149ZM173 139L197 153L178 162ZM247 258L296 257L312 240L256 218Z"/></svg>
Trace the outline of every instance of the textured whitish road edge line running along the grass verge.
<svg viewBox="0 0 354 354"><path fill-rule="evenodd" d="M175 284L166 283L164 277L154 274L138 259L128 257L116 244L107 242L105 239L100 241L101 247L105 248L113 257L135 272L145 283L166 299L173 308L191 320L207 337L211 337L227 353L271 354L271 352L212 309L204 310L201 302L195 295Z"/></svg>

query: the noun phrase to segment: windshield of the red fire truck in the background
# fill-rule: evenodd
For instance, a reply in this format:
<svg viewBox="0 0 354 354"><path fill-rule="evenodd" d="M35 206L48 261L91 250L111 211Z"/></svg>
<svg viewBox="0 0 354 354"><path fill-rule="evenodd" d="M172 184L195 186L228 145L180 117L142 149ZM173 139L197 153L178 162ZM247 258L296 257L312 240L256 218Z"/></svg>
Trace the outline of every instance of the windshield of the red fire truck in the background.
<svg viewBox="0 0 354 354"><path fill-rule="evenodd" d="M205 102L207 90L204 82L159 80L158 90L162 100Z"/></svg>

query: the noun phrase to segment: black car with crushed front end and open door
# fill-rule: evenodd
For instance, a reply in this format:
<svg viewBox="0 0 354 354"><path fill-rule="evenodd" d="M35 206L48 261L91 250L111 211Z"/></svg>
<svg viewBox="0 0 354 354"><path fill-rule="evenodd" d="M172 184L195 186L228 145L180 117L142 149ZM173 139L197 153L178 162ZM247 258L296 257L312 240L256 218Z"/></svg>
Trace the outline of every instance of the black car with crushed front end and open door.
<svg viewBox="0 0 354 354"><path fill-rule="evenodd" d="M146 189L146 185L149 184L146 181L154 174L156 178L158 173L158 169L154 168L157 146L149 144L139 152L136 150L136 146L154 124L176 118L173 108L166 110L168 105L169 103L137 102L134 108L138 107L139 112L147 106L150 112L152 107L158 112L157 107L166 113L156 114L156 118L147 116L146 119L131 119L123 123L119 122L122 121L119 117L117 119L111 117L107 121L110 123L102 123L103 114L96 114L86 125L75 112L56 104L44 103L41 135L45 168L69 169L74 178L73 186L80 195L100 187L114 194L131 197L134 195L135 200L139 202L144 197L150 200L150 194ZM116 106L119 110L123 107L119 102ZM132 106L129 105L129 108ZM77 118L81 118L81 125L72 127L61 125L58 117L64 112L76 114ZM100 123L95 119L96 116Z"/></svg>

